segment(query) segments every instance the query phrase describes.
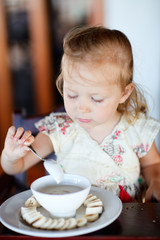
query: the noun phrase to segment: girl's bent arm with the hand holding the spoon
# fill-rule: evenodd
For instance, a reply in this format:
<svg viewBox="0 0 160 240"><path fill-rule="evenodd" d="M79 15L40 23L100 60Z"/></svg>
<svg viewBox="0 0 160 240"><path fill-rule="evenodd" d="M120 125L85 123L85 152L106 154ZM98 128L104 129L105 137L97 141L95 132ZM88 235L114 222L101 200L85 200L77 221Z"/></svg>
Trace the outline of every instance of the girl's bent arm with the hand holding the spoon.
<svg viewBox="0 0 160 240"><path fill-rule="evenodd" d="M31 132L24 131L22 127L9 128L1 155L1 165L7 174L21 173L40 161L27 147L31 144L42 157L53 152L53 145L47 135L39 133L34 139Z"/></svg>

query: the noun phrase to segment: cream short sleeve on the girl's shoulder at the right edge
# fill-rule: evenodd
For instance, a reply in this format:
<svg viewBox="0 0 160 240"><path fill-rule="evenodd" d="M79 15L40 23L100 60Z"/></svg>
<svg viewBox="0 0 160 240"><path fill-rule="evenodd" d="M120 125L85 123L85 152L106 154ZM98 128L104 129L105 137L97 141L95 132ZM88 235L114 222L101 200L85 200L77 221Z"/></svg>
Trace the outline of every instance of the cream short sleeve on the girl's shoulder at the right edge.
<svg viewBox="0 0 160 240"><path fill-rule="evenodd" d="M138 158L144 157L160 130L160 122L141 114L133 126L127 129L128 141Z"/></svg>

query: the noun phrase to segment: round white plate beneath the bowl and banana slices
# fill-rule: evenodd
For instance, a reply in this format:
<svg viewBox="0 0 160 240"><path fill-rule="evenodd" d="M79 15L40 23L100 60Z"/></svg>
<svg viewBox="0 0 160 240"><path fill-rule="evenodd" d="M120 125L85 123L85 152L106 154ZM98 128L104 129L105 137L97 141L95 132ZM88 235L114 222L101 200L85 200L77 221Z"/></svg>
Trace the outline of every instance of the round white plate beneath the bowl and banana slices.
<svg viewBox="0 0 160 240"><path fill-rule="evenodd" d="M20 208L24 206L25 201L32 195L30 190L16 194L6 200L0 207L0 220L7 228L30 236L37 237L70 237L82 234L91 233L102 229L113 221L115 221L122 211L121 200L113 193L92 187L90 193L100 198L104 204L104 211L98 220L95 222L87 223L86 226L75 228L72 230L55 231L55 230L41 230L28 226L23 222L20 217ZM80 207L76 216L84 214L84 207ZM41 208L41 212L47 215L47 212Z"/></svg>

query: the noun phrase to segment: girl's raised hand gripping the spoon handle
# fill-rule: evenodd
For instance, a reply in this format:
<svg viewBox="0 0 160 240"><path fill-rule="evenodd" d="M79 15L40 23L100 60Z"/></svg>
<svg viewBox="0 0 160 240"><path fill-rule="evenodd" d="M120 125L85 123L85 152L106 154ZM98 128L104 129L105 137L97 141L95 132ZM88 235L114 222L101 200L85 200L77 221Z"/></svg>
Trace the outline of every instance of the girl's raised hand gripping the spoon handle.
<svg viewBox="0 0 160 240"><path fill-rule="evenodd" d="M31 131L24 131L22 127L16 129L12 126L8 129L3 154L9 161L15 162L26 155L29 150L27 146L33 141Z"/></svg>

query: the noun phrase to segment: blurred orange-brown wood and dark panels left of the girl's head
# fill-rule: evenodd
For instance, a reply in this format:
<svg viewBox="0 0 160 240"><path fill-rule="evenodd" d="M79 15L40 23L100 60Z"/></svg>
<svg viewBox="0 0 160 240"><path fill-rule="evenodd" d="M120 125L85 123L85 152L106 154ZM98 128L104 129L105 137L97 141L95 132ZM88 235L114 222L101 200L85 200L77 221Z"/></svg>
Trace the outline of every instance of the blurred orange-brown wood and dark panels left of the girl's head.
<svg viewBox="0 0 160 240"><path fill-rule="evenodd" d="M103 22L102 0L0 0L0 150L15 114L62 105L55 81L66 32Z"/></svg>

